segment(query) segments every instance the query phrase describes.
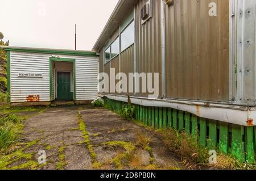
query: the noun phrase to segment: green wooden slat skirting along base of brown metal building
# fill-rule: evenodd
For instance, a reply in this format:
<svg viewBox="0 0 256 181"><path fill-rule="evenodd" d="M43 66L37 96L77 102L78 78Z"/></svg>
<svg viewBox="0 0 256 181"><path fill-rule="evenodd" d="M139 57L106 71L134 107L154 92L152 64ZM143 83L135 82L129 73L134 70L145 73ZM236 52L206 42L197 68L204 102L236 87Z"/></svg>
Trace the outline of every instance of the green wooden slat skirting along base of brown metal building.
<svg viewBox="0 0 256 181"><path fill-rule="evenodd" d="M104 98L111 110L120 112L127 103ZM243 127L208 120L189 112L166 107L135 106L135 119L154 129L175 128L198 137L201 146L232 154L240 161L255 162L256 127Z"/></svg>

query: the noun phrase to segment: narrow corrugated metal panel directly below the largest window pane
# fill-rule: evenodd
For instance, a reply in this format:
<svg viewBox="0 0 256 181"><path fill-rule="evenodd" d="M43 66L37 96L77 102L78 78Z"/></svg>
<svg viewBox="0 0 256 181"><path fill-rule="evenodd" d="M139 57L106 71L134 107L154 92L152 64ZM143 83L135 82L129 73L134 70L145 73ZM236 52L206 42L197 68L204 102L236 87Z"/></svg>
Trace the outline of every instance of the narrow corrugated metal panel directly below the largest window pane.
<svg viewBox="0 0 256 181"><path fill-rule="evenodd" d="M134 45L131 45L120 54L120 70L127 75L129 79L129 73L134 72ZM127 92L129 92L129 81L127 85ZM134 95L133 93L123 93L122 95Z"/></svg>

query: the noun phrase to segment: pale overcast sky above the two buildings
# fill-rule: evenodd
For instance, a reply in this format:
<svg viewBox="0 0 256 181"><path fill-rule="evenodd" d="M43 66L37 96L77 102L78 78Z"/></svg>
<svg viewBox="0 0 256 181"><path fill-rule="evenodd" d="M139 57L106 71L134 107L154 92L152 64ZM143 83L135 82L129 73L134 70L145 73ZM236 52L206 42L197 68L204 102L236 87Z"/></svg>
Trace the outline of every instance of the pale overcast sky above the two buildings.
<svg viewBox="0 0 256 181"><path fill-rule="evenodd" d="M0 0L10 46L92 50L118 0Z"/></svg>

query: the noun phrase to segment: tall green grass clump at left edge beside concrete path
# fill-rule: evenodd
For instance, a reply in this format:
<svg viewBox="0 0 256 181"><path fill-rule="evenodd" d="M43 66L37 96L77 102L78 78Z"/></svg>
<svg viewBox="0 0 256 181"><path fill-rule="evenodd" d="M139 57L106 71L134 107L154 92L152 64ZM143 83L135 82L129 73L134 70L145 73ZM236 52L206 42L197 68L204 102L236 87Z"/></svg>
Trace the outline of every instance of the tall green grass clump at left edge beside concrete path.
<svg viewBox="0 0 256 181"><path fill-rule="evenodd" d="M12 131L13 124L5 123L2 127L0 127L0 150L5 150L16 142L18 138L18 134Z"/></svg>

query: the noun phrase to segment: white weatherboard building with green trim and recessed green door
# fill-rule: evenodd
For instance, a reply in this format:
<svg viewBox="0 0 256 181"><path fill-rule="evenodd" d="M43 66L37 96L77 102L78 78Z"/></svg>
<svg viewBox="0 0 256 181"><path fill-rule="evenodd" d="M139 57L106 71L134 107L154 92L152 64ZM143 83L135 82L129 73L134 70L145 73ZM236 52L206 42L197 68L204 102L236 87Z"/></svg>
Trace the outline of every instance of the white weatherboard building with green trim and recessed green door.
<svg viewBox="0 0 256 181"><path fill-rule="evenodd" d="M1 47L7 52L13 105L90 102L98 95L98 56L80 50Z"/></svg>

